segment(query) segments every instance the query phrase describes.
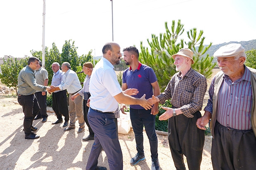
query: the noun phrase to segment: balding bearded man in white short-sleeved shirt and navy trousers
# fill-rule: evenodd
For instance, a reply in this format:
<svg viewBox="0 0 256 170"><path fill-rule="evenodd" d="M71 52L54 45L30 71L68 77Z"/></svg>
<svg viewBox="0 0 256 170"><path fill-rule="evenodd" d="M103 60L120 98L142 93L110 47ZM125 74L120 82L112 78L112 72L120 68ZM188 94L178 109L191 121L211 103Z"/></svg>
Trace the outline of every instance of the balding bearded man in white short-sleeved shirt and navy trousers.
<svg viewBox="0 0 256 170"><path fill-rule="evenodd" d="M122 92L113 66L120 63L119 44L114 42L105 44L102 53L103 57L92 71L89 87L91 97L88 122L95 135L86 170L106 170L97 166L102 149L107 154L109 169L122 170L123 154L116 132L114 111L119 102L141 105L145 109L151 109L152 106L145 99L145 95L142 98L133 98Z"/></svg>

